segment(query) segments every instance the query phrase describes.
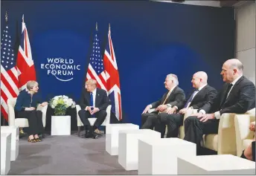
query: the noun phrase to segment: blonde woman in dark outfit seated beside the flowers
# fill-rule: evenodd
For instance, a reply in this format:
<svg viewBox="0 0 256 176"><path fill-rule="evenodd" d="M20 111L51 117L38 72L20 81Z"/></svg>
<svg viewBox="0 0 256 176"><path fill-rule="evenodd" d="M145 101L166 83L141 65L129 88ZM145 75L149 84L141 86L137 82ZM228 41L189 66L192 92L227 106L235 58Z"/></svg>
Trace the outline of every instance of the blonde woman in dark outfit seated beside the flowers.
<svg viewBox="0 0 256 176"><path fill-rule="evenodd" d="M16 100L14 107L15 118L27 118L28 119L28 142L36 143L40 142L38 134L42 134L44 128L42 126L42 111L36 111L37 105L42 107L47 105L48 102L42 102L40 104L40 98L38 94L38 83L36 81L28 81L27 89L21 91Z"/></svg>

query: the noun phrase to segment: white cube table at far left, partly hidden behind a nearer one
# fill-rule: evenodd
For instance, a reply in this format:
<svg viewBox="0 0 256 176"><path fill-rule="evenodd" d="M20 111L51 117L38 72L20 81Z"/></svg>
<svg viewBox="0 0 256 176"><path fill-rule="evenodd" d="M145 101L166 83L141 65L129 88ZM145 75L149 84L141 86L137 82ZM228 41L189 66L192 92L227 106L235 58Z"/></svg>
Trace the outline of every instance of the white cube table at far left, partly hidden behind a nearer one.
<svg viewBox="0 0 256 176"><path fill-rule="evenodd" d="M1 126L1 133L11 134L10 160L16 160L19 154L19 127Z"/></svg>

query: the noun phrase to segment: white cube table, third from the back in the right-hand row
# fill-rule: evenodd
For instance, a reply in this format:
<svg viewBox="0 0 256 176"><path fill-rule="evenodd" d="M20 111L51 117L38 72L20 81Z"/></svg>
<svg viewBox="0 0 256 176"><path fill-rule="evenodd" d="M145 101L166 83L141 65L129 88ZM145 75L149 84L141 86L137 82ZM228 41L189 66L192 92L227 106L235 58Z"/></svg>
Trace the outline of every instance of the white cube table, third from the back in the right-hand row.
<svg viewBox="0 0 256 176"><path fill-rule="evenodd" d="M139 139L138 175L177 175L178 156L196 156L196 144L179 138Z"/></svg>

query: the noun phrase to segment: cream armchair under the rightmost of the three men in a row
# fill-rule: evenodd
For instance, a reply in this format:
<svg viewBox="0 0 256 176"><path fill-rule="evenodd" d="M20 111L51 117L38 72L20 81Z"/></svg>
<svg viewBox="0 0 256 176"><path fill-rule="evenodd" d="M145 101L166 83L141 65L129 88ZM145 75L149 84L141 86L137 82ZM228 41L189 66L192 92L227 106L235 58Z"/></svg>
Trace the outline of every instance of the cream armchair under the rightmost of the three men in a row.
<svg viewBox="0 0 256 176"><path fill-rule="evenodd" d="M196 113L196 109L188 111L184 120ZM246 114L255 114L255 108L247 111ZM206 149L217 151L217 154L237 155L236 132L234 128L234 117L237 114L224 113L220 117L218 134L205 134L201 146ZM248 126L249 128L249 126Z"/></svg>

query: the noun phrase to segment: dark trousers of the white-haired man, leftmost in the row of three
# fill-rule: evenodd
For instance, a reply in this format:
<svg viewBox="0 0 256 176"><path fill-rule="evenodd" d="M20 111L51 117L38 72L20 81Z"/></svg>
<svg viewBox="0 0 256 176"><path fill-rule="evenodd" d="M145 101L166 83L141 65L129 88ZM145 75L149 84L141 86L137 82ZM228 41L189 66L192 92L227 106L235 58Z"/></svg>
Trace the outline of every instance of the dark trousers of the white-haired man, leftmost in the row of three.
<svg viewBox="0 0 256 176"><path fill-rule="evenodd" d="M157 112L141 114L141 129L153 129L157 123Z"/></svg>

